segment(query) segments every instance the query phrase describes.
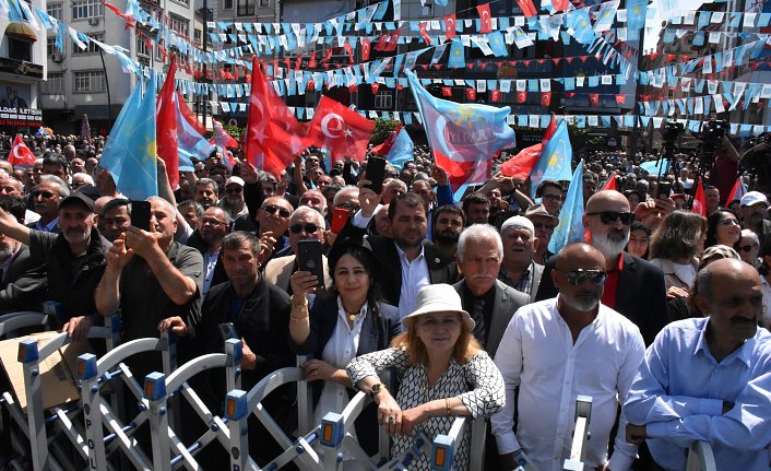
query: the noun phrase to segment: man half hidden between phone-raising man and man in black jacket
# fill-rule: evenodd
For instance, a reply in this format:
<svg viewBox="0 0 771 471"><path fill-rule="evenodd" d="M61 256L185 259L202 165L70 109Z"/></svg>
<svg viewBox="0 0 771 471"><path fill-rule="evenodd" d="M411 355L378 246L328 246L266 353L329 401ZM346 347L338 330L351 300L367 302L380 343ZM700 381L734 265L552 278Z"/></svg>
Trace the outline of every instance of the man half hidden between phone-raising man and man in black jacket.
<svg viewBox="0 0 771 471"><path fill-rule="evenodd" d="M200 227L195 229L187 245L201 252L203 257L203 290L201 296L209 293L209 289L227 281L227 274L222 263L222 240L230 232L230 216L218 207L209 207L201 216Z"/></svg>

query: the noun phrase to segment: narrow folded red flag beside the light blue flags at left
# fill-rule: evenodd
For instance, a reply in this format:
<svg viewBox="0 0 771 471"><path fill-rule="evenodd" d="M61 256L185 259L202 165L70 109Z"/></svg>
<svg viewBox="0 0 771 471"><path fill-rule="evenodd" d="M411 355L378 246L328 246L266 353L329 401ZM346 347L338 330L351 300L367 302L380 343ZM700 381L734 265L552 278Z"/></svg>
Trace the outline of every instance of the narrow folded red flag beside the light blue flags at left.
<svg viewBox="0 0 771 471"><path fill-rule="evenodd" d="M166 176L173 189L179 186L179 145L177 143L177 109L174 106L175 84L174 76L177 71L176 56L171 56L168 75L161 87L155 103L155 142L158 157L166 163Z"/></svg>

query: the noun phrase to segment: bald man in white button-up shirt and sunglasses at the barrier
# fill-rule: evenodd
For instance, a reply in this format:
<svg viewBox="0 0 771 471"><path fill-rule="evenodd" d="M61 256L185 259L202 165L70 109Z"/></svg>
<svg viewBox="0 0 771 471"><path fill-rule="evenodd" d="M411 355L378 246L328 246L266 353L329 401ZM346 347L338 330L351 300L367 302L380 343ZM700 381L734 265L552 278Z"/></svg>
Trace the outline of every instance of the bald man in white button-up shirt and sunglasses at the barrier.
<svg viewBox="0 0 771 471"><path fill-rule="evenodd" d="M491 419L501 469L518 467L519 450L535 469L562 469L579 395L592 396L585 469L629 469L634 459L624 416L609 461L607 445L645 348L629 319L600 304L605 267L605 256L591 245L566 246L550 272L558 296L520 308L509 322L495 355L506 382L506 407Z"/></svg>

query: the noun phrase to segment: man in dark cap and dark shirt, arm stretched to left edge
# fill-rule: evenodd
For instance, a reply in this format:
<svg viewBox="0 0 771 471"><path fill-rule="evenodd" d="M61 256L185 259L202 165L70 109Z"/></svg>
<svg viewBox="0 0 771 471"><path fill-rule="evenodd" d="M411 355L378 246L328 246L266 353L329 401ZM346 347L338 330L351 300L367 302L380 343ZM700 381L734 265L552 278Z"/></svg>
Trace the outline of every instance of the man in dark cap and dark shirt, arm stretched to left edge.
<svg viewBox="0 0 771 471"><path fill-rule="evenodd" d="M94 202L80 192L59 202L58 220L61 233L54 234L26 227L0 209L0 233L29 246L31 259L47 266L46 299L63 304L62 329L81 340L98 318L94 290L109 242L96 228Z"/></svg>

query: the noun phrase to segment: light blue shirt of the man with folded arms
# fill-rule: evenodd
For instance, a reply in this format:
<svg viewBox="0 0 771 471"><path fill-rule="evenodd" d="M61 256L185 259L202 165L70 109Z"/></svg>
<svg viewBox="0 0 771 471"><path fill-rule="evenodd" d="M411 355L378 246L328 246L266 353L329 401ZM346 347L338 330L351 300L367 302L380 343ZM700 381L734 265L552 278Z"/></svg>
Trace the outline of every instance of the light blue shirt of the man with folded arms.
<svg viewBox="0 0 771 471"><path fill-rule="evenodd" d="M717 363L704 333L709 318L668 325L645 352L624 414L647 424L659 464L685 469L685 450L709 441L719 470L768 471L771 443L771 333L754 338ZM723 414L723 401L734 408Z"/></svg>

